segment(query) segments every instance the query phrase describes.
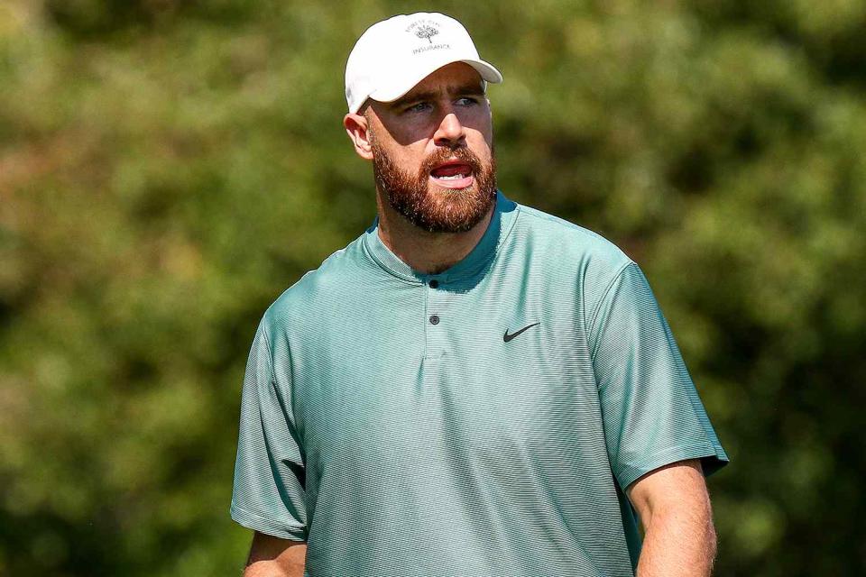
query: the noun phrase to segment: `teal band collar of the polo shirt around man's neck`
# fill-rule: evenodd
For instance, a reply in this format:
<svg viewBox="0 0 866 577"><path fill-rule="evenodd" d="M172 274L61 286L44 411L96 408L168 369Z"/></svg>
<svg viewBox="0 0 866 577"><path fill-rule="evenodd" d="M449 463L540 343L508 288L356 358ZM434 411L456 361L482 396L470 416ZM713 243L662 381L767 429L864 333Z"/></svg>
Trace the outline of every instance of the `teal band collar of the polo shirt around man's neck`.
<svg viewBox="0 0 866 577"><path fill-rule="evenodd" d="M364 233L364 247L373 261L399 279L414 283L426 282L428 279L439 279L441 282L467 279L486 270L491 264L497 248L511 232L511 225L517 212L516 207L516 203L497 190L493 216L491 216L490 224L487 225L487 230L484 231L481 240L475 244L472 251L462 261L438 274L425 274L414 270L391 252L391 249L385 246L385 243L382 243L382 239L379 238L378 217L373 220L373 224Z"/></svg>

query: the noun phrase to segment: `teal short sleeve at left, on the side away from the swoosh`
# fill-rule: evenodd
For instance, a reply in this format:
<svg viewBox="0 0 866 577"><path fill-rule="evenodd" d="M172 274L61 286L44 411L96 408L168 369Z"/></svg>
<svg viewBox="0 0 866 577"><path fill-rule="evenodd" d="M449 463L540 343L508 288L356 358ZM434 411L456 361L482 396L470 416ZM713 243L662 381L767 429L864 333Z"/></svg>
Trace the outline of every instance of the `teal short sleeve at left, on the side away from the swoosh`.
<svg viewBox="0 0 866 577"><path fill-rule="evenodd" d="M231 516L260 533L306 541L304 459L290 391L278 389L272 367L263 321L244 375Z"/></svg>

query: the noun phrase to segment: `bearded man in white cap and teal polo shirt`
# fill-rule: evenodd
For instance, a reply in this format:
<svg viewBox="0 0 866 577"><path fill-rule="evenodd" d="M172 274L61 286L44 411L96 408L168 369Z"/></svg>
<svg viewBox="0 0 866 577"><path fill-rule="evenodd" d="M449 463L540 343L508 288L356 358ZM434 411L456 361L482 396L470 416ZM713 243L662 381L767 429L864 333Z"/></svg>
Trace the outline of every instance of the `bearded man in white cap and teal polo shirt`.
<svg viewBox="0 0 866 577"><path fill-rule="evenodd" d="M637 265L497 191L501 80L442 14L349 56L378 218L255 336L246 575L710 572L704 475L727 457Z"/></svg>

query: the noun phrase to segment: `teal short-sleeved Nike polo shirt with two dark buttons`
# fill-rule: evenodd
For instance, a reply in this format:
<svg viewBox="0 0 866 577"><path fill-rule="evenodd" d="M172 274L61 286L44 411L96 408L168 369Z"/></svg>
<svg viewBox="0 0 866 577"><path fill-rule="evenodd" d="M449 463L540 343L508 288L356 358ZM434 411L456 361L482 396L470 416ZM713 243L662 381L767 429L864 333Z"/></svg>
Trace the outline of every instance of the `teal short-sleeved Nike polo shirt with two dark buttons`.
<svg viewBox="0 0 866 577"><path fill-rule="evenodd" d="M373 224L268 308L231 515L310 577L632 575L624 490L727 462L638 266L498 193L441 274Z"/></svg>

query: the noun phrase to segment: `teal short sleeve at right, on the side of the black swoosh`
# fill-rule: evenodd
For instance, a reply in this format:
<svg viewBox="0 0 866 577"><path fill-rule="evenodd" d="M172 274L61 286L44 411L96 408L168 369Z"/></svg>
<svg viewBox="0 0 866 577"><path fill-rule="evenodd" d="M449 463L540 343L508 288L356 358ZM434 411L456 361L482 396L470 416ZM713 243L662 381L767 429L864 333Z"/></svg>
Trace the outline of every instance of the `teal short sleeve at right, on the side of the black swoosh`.
<svg viewBox="0 0 866 577"><path fill-rule="evenodd" d="M728 457L640 268L613 281L590 329L604 436L622 490L641 475L701 459L706 475Z"/></svg>

